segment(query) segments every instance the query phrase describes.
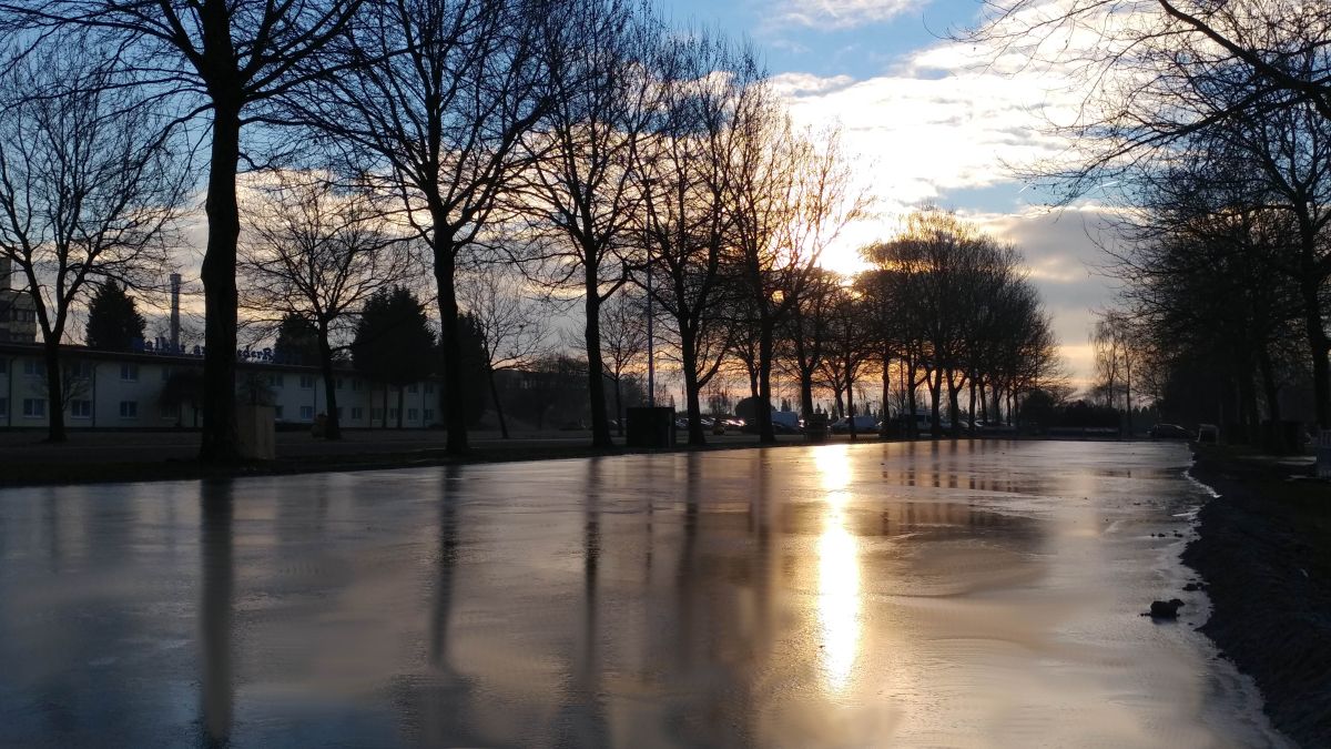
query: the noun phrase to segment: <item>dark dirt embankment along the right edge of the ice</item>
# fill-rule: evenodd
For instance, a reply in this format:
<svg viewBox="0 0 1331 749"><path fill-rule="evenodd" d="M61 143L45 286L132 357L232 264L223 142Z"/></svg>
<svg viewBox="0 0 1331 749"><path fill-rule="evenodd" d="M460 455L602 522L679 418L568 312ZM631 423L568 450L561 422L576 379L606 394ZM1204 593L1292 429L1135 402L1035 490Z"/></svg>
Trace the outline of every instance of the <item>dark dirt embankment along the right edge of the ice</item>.
<svg viewBox="0 0 1331 749"><path fill-rule="evenodd" d="M1331 745L1331 485L1206 453L1193 476L1221 494L1183 553L1214 605L1202 632L1256 680L1275 728Z"/></svg>

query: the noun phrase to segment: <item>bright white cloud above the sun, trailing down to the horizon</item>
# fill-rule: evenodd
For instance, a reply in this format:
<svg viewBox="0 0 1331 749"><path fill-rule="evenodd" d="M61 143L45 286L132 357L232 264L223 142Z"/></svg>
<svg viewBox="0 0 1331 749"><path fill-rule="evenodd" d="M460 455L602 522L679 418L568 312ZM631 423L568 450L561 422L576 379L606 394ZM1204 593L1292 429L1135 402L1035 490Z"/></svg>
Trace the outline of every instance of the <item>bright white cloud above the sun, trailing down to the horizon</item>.
<svg viewBox="0 0 1331 749"><path fill-rule="evenodd" d="M1022 205L1016 176L1018 168L1073 153L1073 144L1049 125L1075 119L1083 96L1077 80L1070 68L1030 67L1018 55L953 43L916 51L885 75L864 80L807 73L773 79L797 121L840 123L847 151L856 155L861 180L877 199L876 215L847 228L827 264L857 271L864 267L857 248L894 235L900 216L912 208L956 208L1022 252L1073 381L1087 384L1093 311L1114 300L1114 284L1099 271L1106 261L1102 245L1113 240L1110 209Z"/></svg>

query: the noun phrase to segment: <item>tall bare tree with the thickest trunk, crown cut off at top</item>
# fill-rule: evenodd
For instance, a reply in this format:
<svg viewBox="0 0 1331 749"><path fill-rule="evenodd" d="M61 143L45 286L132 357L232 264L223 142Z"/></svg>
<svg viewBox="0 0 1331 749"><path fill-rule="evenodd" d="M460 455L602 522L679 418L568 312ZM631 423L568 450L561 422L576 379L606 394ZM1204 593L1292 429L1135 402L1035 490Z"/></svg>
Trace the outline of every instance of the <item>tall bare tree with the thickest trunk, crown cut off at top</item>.
<svg viewBox="0 0 1331 749"><path fill-rule="evenodd" d="M118 56L121 85L194 107L184 120L208 116L210 135L205 289L204 437L200 458L237 457L236 252L240 237L236 175L241 129L286 120L274 99L335 72L315 57L351 23L362 0L4 0L0 33L45 39L79 28L89 45Z"/></svg>

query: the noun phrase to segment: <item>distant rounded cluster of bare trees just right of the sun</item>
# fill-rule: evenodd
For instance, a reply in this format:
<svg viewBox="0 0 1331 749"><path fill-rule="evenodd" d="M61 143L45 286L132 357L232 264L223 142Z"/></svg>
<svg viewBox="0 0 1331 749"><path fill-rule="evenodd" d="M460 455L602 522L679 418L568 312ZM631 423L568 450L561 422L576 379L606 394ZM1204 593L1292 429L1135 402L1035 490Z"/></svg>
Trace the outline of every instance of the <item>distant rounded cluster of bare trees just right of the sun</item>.
<svg viewBox="0 0 1331 749"><path fill-rule="evenodd" d="M884 406L897 393L898 410L914 414L924 392L932 432L941 433L946 406L958 434L962 414L973 430L977 406L998 418L1008 398L1061 376L1049 316L1014 248L954 213L924 209L900 236L861 252L870 269L853 279L820 272L785 319L784 363L805 418L819 385L855 416L856 384L876 373Z"/></svg>

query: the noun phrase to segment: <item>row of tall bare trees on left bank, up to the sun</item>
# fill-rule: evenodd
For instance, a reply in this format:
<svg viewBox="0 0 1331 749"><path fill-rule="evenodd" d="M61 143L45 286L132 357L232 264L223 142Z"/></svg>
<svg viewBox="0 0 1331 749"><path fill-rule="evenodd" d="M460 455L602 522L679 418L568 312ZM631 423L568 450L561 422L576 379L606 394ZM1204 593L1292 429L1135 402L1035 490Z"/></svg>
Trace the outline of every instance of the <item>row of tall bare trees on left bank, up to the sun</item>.
<svg viewBox="0 0 1331 749"><path fill-rule="evenodd" d="M409 239L425 248L435 280L450 452L467 449L459 280L496 259L520 260L532 277L567 284L583 300L588 367L599 372L600 307L635 272L669 269L668 283L648 293L696 320L713 299L709 276L724 255L747 273L767 388L777 319L858 205L845 195L835 143L816 144L792 125L748 51L676 33L628 0L16 0L0 5L0 39L8 71L35 80L37 71L61 69L53 61L80 63L72 48L95 56L87 68L101 77L81 89L120 97L109 104L116 115L141 107L161 120L114 119L128 133L156 133L134 147L206 145L202 460L236 457L241 304L285 316L298 299L321 335L331 333L343 309L413 273L411 253L398 252ZM35 107L65 101L41 85L23 91ZM77 117L63 120L80 127ZM325 169L337 189L371 196L374 221L349 208L355 200L318 185L278 185L299 207L277 195L274 211L248 211L237 187L242 167ZM165 207L165 227L182 204L188 171L164 164L162 175L177 180L166 185L173 195L98 187L132 205L116 217ZM302 213L309 207L315 215ZM21 255L25 241L7 239L7 253ZM105 241L125 245L114 235ZM68 265L114 275L108 264ZM253 283L260 277L286 284ZM57 345L59 323L45 328ZM697 323L683 331L683 357L696 361L708 333ZM588 381L594 441L608 445L602 378Z"/></svg>

